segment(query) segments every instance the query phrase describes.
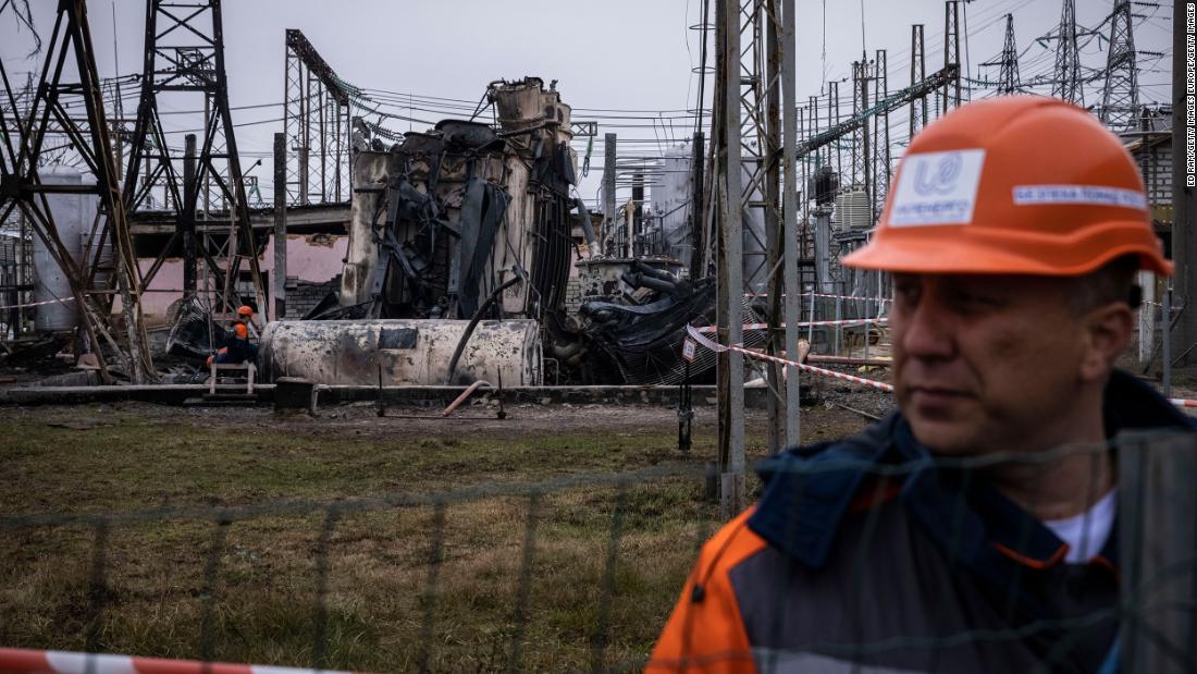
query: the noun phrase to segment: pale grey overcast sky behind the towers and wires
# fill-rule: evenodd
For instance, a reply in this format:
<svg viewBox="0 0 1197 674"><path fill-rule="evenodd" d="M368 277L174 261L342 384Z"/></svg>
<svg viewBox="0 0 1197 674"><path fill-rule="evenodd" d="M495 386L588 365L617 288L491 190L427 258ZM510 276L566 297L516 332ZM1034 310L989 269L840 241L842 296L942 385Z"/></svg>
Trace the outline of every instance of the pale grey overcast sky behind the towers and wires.
<svg viewBox="0 0 1197 674"><path fill-rule="evenodd" d="M31 5L38 29L48 37L56 0L31 0ZM703 0L225 0L230 99L235 108L244 108L235 109L233 121L263 122L237 130L243 166L266 158L254 174L261 176L268 199L272 134L282 130L281 121L272 120L282 116L284 31L288 28L300 29L339 77L370 90L475 102L494 79L531 74L546 83L559 80L563 99L575 108L575 120L597 120L600 134L614 132L627 141L620 147L621 157L656 154L694 130L685 110L694 108L698 80L692 68L698 65L699 40L688 26L700 22L701 6ZM1077 0L1078 23L1095 25L1111 7L1112 0ZM997 68L979 63L1001 51L1008 12L1014 13L1023 53L1023 78L1050 74L1051 43L1039 45L1035 38L1058 23L1059 0L976 0L961 10L968 35L961 50L973 75L997 77ZM1137 48L1171 54L1171 2L1157 8L1136 4L1135 11L1147 17L1137 19ZM101 75L140 72L145 2L92 0L89 12ZM913 23L926 25L928 72L943 65L942 0L798 0L797 12L798 103L821 93L827 79L850 75L852 60L861 57L862 29L870 59L876 49L888 50L891 90L909 84ZM1090 42L1082 55L1087 66L1104 66L1104 43ZM40 68L44 54L28 59L31 44L29 31L19 30L11 13L0 17L0 57L10 77L23 80L22 73ZM1140 66L1143 101L1167 102L1171 56L1141 57ZM841 86L846 105L851 83ZM123 93L126 115L132 116L136 91ZM978 90L974 96L984 93ZM402 96L375 96L383 110L431 121L451 116L452 105L464 105L426 99L421 104L413 98L408 111L399 103ZM1087 103L1099 98L1099 85L1094 85ZM162 102L164 111L200 105L198 96ZM247 108L251 105L262 107ZM658 121L651 121L654 116ZM168 130L194 128L196 121L188 115L164 119ZM904 128L905 115L895 115L893 123L895 130ZM409 122L385 125L408 130ZM419 130L424 125L411 127ZM174 138L181 146L182 138ZM594 199L602 172L601 145L600 139L593 158L596 170L581 189L588 200ZM585 152L584 142L575 146Z"/></svg>

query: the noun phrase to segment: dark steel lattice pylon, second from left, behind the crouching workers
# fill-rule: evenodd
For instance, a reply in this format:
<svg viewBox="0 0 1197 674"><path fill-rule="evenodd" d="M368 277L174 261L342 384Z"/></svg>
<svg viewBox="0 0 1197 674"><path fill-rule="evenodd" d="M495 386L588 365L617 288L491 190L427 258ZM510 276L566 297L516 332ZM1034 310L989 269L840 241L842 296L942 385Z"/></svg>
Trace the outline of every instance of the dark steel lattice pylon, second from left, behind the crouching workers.
<svg viewBox="0 0 1197 674"><path fill-rule="evenodd" d="M193 120L195 127L203 128L203 141L200 145L198 170L193 176L195 186L190 189L181 184L177 159L166 142L158 110L159 97L175 93L199 95L202 97L205 109L202 117L196 116ZM142 168L148 177L139 187L138 177ZM230 231L230 236L225 239L223 261L220 254L213 259L207 245L203 250L212 275L217 279L217 286L225 289L220 295L220 304L229 311L239 304L232 291L236 286L233 281L239 274L241 261L244 259L249 261L259 310L267 315L269 309L262 291L262 275L257 263L259 247L265 244L265 239L259 241L259 237L254 236L249 221L245 183L229 109L220 0L175 2L147 0L141 98L138 103L138 121L133 129L128 165L124 171L126 207L130 213L136 212L147 202L152 202L152 193L160 190L164 202L182 204L177 207L178 218L194 218L196 201L200 198L205 204L211 201L208 186L215 186L217 200L223 200L227 205L231 230L236 231L236 236ZM184 194L190 194L193 201L182 201ZM205 219L206 213L207 208ZM205 221L205 233L208 236L211 232L207 227L211 226L212 224ZM151 272L157 272L162 267L174 244L172 238L163 247ZM144 283L148 284L153 275L147 272Z"/></svg>

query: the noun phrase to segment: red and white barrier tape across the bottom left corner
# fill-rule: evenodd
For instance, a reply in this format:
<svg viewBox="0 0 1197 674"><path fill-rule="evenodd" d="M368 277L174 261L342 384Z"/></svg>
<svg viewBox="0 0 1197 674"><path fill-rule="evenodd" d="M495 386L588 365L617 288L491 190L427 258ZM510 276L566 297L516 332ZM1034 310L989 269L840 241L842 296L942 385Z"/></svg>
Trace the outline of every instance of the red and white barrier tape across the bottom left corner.
<svg viewBox="0 0 1197 674"><path fill-rule="evenodd" d="M347 674L340 672L226 664L192 660L130 657L127 655L67 652L0 648L0 672L38 672L50 674Z"/></svg>

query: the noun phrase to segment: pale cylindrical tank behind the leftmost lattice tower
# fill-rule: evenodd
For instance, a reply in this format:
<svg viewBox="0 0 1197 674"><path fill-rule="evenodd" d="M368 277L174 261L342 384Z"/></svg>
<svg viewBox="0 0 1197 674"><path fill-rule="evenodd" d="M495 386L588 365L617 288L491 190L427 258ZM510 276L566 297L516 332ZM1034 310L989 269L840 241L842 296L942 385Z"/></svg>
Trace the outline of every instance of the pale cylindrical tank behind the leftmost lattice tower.
<svg viewBox="0 0 1197 674"><path fill-rule="evenodd" d="M75 169L55 168L40 171L45 184L83 184L83 174ZM57 229L59 238L75 262L81 262L81 243L91 231L99 206L95 194L48 194L47 202ZM72 330L79 322L75 302L54 302L71 297L71 284L66 273L50 255L42 238L34 237L34 302L48 302L37 306L34 327L38 332Z"/></svg>

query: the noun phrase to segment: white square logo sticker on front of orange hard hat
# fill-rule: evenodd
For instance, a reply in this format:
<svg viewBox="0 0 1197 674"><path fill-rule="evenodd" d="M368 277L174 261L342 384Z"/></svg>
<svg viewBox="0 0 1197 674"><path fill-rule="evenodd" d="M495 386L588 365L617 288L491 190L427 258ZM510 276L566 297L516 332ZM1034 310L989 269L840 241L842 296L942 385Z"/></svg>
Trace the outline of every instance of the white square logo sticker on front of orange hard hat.
<svg viewBox="0 0 1197 674"><path fill-rule="evenodd" d="M971 223L984 163L984 150L907 156L891 198L887 224L900 227Z"/></svg>

